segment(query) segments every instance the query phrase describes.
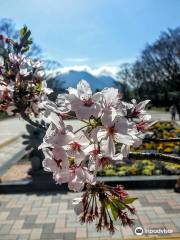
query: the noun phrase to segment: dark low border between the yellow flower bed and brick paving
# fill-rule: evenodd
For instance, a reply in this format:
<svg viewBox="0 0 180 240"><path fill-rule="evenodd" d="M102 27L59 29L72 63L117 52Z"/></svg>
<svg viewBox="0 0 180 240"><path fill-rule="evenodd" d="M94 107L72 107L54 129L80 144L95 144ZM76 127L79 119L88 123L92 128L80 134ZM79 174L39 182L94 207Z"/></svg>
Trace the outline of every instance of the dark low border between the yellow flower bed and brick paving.
<svg viewBox="0 0 180 240"><path fill-rule="evenodd" d="M178 176L127 176L127 177L98 177L98 180L115 186L122 184L126 189L169 189L174 188ZM43 179L25 179L8 181L0 184L0 193L37 193L37 192L67 192L67 184L57 185L47 173Z"/></svg>

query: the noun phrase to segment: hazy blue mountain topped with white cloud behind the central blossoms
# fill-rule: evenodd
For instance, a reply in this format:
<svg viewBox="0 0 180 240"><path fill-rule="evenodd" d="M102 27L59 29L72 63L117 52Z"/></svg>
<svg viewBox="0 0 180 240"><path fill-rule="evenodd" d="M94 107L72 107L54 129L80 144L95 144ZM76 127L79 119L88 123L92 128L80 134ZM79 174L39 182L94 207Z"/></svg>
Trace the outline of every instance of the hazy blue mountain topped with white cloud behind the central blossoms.
<svg viewBox="0 0 180 240"><path fill-rule="evenodd" d="M66 89L68 87L76 88L78 82L81 79L86 80L93 91L101 90L105 87L113 87L114 81L117 81L116 77L107 72L101 72L95 74L88 69L62 71L62 69L55 70L49 75L51 79L54 79L54 87L58 87L58 84Z"/></svg>

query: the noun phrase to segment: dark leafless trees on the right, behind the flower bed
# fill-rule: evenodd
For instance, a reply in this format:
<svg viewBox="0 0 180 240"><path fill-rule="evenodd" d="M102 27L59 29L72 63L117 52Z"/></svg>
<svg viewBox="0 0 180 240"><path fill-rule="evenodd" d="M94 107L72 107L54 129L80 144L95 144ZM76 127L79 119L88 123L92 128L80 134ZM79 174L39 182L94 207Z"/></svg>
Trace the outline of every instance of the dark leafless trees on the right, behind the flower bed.
<svg viewBox="0 0 180 240"><path fill-rule="evenodd" d="M162 32L134 63L121 65L118 78L124 98L149 98L155 106L179 102L180 27Z"/></svg>

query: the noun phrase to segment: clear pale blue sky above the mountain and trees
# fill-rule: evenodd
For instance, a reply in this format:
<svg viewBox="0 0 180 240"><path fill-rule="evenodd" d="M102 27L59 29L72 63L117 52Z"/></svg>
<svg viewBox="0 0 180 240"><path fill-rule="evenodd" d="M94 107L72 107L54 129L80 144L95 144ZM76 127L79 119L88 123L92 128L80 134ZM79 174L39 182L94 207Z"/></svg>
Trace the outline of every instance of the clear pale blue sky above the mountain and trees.
<svg viewBox="0 0 180 240"><path fill-rule="evenodd" d="M180 0L0 0L2 17L28 25L64 66L113 66L180 25Z"/></svg>

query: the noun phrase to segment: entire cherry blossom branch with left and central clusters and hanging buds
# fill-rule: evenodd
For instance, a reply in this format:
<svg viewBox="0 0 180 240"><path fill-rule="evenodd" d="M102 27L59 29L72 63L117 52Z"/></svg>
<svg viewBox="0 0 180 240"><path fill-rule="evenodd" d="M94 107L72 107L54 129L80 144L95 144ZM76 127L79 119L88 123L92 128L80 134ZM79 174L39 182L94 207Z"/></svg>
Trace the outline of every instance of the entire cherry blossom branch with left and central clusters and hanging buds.
<svg viewBox="0 0 180 240"><path fill-rule="evenodd" d="M133 219L128 212L134 214L135 211L128 204L136 198L128 196L121 185L112 189L96 182L95 175L97 170L117 159L117 143L121 146L118 153L124 157L130 146L139 144L150 119L145 111L149 100L121 102L118 89L113 87L93 94L89 83L82 79L77 89L70 87L68 93L60 94L58 105L51 102L48 95L52 90L43 81L40 63L24 56L32 43L30 34L30 30L23 27L17 43L0 35L0 47L5 53L0 58L0 110L19 114L30 125L46 132L39 147L45 156L42 166L53 173L58 184L67 182L70 190L79 192L88 183L83 198L76 201L83 207L78 208L82 223L98 220L97 231L105 228L110 233L114 233L113 221L117 219L123 226L131 226ZM13 47L9 48L4 41ZM42 116L40 113L44 114L46 123L36 121ZM81 121L82 127L73 132L73 121L66 124L67 119ZM80 131L82 134L76 135ZM129 158L180 164L179 157L163 154L130 153Z"/></svg>

